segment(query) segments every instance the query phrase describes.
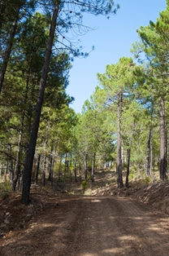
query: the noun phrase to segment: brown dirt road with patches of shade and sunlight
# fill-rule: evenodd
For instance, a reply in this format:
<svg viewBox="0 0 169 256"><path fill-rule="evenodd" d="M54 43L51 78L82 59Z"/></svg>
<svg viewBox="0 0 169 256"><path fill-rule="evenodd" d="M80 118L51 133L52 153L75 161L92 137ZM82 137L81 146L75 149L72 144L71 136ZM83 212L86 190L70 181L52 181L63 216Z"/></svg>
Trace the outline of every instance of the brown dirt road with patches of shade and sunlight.
<svg viewBox="0 0 169 256"><path fill-rule="evenodd" d="M128 198L51 197L27 228L0 245L3 256L166 256L169 218Z"/></svg>

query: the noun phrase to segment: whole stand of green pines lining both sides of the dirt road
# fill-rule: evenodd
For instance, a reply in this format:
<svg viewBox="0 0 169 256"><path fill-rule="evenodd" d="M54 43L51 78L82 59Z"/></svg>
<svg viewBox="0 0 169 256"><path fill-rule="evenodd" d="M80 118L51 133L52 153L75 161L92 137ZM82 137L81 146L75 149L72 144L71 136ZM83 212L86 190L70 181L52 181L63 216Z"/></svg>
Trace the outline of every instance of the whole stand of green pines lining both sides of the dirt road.
<svg viewBox="0 0 169 256"><path fill-rule="evenodd" d="M69 33L86 33L83 13L111 15L112 1L0 2L0 170L29 203L31 182L53 185L72 175L94 181L96 168L115 166L117 185L128 177L167 179L169 1L158 20L137 30L133 58L98 73L81 113L67 95L72 59L86 56ZM40 11L41 10L41 11ZM9 13L11 15L9 15Z"/></svg>

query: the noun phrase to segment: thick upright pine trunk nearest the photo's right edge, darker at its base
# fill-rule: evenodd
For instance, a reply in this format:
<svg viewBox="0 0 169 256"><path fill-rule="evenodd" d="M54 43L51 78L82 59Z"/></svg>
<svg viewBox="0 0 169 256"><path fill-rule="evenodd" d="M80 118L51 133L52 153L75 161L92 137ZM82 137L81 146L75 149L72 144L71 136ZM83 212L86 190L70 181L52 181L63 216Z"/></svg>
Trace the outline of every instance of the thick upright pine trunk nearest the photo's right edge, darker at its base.
<svg viewBox="0 0 169 256"><path fill-rule="evenodd" d="M166 159L166 126L165 126L165 104L164 96L161 96L160 109L160 179L166 179L167 159Z"/></svg>

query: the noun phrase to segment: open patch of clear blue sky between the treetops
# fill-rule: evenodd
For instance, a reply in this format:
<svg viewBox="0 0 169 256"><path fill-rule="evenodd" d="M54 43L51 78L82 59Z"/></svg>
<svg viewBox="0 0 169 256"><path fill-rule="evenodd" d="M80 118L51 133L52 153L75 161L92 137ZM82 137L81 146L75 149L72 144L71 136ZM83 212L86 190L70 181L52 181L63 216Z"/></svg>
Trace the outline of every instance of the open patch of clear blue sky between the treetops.
<svg viewBox="0 0 169 256"><path fill-rule="evenodd" d="M105 73L106 64L116 64L120 57L132 56L132 43L139 40L136 30L156 21L159 12L166 9L166 0L115 0L120 9L110 20L104 16L85 15L84 24L97 27L80 37L84 51L92 51L86 59L74 60L70 71L67 94L75 101L70 105L81 112L85 99L89 99L97 86L97 73Z"/></svg>

